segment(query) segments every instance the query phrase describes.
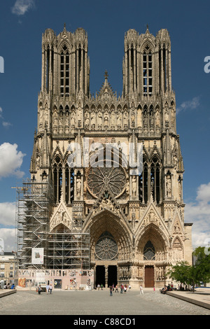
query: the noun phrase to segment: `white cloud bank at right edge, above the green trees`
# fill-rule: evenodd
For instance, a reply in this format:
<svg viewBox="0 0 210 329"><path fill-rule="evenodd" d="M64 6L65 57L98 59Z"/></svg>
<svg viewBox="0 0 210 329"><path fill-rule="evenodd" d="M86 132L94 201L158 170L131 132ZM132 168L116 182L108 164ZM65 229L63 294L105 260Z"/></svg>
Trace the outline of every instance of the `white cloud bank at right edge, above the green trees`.
<svg viewBox="0 0 210 329"><path fill-rule="evenodd" d="M193 223L193 246L205 246L210 238L210 183L202 184L195 202L186 204L185 221Z"/></svg>

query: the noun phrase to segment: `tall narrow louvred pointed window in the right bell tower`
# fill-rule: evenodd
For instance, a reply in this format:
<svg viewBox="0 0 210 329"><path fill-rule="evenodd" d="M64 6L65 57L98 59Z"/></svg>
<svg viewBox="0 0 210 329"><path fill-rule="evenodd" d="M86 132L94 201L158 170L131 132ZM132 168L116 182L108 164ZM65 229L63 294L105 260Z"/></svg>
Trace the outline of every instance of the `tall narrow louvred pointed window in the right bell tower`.
<svg viewBox="0 0 210 329"><path fill-rule="evenodd" d="M153 94L153 55L148 45L143 53L143 87L144 96L151 97Z"/></svg>

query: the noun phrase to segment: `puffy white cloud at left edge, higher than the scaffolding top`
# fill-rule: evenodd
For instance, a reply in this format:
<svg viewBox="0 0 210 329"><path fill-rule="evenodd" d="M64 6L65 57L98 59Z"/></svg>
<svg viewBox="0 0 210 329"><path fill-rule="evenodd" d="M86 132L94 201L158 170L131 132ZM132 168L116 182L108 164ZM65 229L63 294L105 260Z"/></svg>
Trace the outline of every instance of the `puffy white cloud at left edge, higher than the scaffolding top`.
<svg viewBox="0 0 210 329"><path fill-rule="evenodd" d="M22 159L25 156L17 151L17 144L3 143L0 145L0 178L15 175L22 178L24 172L20 171Z"/></svg>

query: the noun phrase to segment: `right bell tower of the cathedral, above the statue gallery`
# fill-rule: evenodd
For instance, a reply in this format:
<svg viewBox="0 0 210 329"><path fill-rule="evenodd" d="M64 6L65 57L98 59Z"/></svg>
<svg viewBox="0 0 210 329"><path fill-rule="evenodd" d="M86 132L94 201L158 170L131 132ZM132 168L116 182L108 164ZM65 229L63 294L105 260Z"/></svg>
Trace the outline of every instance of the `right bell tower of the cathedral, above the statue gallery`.
<svg viewBox="0 0 210 329"><path fill-rule="evenodd" d="M171 41L167 29L153 36L146 29L139 35L134 29L125 34L123 94L152 97L172 91Z"/></svg>

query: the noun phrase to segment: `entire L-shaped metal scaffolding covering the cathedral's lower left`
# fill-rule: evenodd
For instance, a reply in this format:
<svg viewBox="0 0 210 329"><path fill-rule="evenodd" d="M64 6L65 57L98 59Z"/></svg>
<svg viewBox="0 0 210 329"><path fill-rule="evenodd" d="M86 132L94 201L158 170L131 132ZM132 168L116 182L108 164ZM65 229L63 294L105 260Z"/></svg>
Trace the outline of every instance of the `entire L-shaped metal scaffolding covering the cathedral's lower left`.
<svg viewBox="0 0 210 329"><path fill-rule="evenodd" d="M19 269L90 268L90 234L76 228L50 232L52 187L48 182L23 181L17 187L16 235ZM32 251L42 250L42 262Z"/></svg>

